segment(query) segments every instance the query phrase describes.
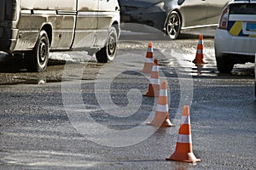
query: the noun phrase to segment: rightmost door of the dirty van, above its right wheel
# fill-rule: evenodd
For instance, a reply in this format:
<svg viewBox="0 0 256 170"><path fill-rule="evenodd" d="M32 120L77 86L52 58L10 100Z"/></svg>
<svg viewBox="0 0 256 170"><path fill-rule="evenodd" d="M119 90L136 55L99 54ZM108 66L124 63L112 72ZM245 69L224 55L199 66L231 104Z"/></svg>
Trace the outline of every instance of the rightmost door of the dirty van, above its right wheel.
<svg viewBox="0 0 256 170"><path fill-rule="evenodd" d="M108 29L111 26L116 9L116 0L99 0L98 31L96 36L96 46L102 47L108 37Z"/></svg>

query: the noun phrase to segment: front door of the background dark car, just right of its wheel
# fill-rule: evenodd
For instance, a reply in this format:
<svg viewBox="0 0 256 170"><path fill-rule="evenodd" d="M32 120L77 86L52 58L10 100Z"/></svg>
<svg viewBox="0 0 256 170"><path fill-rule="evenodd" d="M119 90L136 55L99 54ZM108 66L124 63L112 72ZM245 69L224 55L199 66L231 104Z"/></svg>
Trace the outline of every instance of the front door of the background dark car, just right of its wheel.
<svg viewBox="0 0 256 170"><path fill-rule="evenodd" d="M183 28L206 25L206 0L181 0L180 11L183 18Z"/></svg>

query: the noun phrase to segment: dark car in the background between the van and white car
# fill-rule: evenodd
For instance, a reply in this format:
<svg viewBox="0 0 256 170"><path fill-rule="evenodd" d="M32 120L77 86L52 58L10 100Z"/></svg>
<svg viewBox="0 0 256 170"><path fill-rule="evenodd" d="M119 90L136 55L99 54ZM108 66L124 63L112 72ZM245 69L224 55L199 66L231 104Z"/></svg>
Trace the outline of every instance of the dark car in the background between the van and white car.
<svg viewBox="0 0 256 170"><path fill-rule="evenodd" d="M119 0L121 21L153 26L172 39L183 31L216 28L229 0Z"/></svg>

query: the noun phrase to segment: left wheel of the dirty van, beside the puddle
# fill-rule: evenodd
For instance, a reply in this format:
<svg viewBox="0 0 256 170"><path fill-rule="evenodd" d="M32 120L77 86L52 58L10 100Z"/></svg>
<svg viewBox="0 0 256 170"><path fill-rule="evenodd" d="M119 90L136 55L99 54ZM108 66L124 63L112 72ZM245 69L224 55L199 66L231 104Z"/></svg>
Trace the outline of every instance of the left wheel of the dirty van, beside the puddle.
<svg viewBox="0 0 256 170"><path fill-rule="evenodd" d="M27 70L40 72L47 67L49 59L49 38L46 31L40 31L35 47L26 54Z"/></svg>

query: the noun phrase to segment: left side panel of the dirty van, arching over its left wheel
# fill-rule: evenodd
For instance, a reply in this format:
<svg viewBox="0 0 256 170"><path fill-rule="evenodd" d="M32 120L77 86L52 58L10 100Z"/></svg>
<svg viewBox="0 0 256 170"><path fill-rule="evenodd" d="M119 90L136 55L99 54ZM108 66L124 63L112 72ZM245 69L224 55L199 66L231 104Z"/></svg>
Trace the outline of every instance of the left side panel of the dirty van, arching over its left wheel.
<svg viewBox="0 0 256 170"><path fill-rule="evenodd" d="M51 49L69 49L76 17L74 0L20 0L19 40L15 50L31 50L47 26Z"/></svg>

